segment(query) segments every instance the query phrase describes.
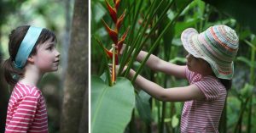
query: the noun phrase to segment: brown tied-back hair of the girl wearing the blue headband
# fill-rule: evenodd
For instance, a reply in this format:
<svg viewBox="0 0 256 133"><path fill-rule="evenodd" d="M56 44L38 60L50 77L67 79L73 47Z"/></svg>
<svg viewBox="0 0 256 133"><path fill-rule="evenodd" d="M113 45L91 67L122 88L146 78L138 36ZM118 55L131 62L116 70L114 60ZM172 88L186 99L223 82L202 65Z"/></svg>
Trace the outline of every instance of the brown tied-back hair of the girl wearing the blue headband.
<svg viewBox="0 0 256 133"><path fill-rule="evenodd" d="M23 25L17 27L15 30L12 30L9 34L9 58L3 62L3 75L5 80L8 82L9 85L15 85L19 78L15 78L17 76L22 77L24 70L15 68L14 62L16 58L16 54L18 53L20 43L22 42L23 38L26 36L26 32L29 29L30 25ZM38 37L38 41L36 42L35 46L32 48L31 55L37 53L37 46L38 44L43 44L49 39L52 39L52 42L56 42L55 33L50 30L43 29L40 36Z"/></svg>

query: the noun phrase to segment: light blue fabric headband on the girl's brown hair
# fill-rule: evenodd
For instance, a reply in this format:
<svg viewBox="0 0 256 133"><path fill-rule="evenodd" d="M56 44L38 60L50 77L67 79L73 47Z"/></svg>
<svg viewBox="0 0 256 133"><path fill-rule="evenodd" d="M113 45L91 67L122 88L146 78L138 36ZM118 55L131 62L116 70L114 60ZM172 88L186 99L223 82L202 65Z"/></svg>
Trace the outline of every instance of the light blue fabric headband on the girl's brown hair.
<svg viewBox="0 0 256 133"><path fill-rule="evenodd" d="M30 26L26 32L26 36L23 38L18 53L15 58L15 68L22 69L26 64L26 59L32 52L32 48L38 41L38 37L41 34L43 28Z"/></svg>

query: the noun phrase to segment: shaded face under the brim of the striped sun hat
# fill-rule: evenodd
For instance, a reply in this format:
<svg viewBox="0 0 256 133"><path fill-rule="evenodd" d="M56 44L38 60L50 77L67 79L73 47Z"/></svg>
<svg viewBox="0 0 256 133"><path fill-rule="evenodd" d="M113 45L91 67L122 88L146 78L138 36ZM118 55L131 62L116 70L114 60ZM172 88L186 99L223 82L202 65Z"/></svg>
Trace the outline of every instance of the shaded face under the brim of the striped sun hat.
<svg viewBox="0 0 256 133"><path fill-rule="evenodd" d="M187 65L188 69L199 73L201 75L212 75L212 68L207 61L202 58L195 58L192 54L188 54L187 58Z"/></svg>

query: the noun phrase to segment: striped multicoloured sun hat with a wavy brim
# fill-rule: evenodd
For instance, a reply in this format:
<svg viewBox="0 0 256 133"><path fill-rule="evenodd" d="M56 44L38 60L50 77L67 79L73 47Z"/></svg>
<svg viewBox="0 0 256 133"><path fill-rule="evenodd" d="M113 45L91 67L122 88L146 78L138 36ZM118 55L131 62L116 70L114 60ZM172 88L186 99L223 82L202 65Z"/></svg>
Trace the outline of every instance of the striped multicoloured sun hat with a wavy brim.
<svg viewBox="0 0 256 133"><path fill-rule="evenodd" d="M226 25L214 25L200 34L193 28L183 30L183 47L195 58L202 58L211 65L220 79L232 79L233 60L238 50L236 31Z"/></svg>

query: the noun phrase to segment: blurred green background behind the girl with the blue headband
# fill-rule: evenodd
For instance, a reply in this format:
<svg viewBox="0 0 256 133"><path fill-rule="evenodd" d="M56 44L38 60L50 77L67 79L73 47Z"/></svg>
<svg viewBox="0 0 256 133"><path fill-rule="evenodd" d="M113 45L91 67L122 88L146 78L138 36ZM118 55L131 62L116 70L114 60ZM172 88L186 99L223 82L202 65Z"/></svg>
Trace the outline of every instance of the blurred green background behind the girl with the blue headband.
<svg viewBox="0 0 256 133"><path fill-rule="evenodd" d="M9 58L8 42L9 33L19 25L35 25L53 30L57 36L57 49L61 52L61 43L64 40L66 26L66 1L61 0L0 0L0 55L1 59ZM71 5L72 7L72 5ZM73 7L72 7L73 8ZM68 13L72 15L73 13ZM60 130L62 87L61 84L61 66L55 73L44 75L39 84L46 99L49 115L49 132L57 133ZM3 78L3 76L1 76ZM3 79L1 79L3 80ZM1 84L1 90L8 90L8 86ZM10 93L1 93L1 101L8 101ZM4 97L2 96L4 95ZM4 98L4 99L2 99ZM2 106L2 105L1 105ZM3 105L6 106L7 105ZM1 119L6 110L1 110ZM3 119L5 121L5 119ZM3 126L2 126L3 125ZM1 123L1 127L4 124ZM2 128L2 131L4 128ZM0 131L0 132L2 132Z"/></svg>

